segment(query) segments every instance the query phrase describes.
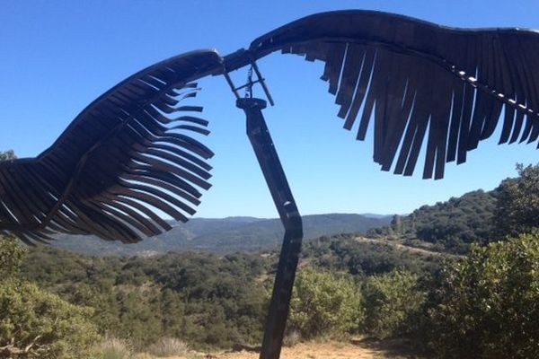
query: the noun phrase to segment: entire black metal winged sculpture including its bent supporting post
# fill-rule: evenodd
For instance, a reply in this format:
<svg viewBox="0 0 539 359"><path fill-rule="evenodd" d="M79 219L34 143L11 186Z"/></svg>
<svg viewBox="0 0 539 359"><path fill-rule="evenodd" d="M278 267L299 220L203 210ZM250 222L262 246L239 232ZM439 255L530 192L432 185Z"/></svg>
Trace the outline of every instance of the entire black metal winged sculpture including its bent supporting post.
<svg viewBox="0 0 539 359"><path fill-rule="evenodd" d="M257 60L273 52L323 61L322 80L358 140L374 126L374 161L410 176L426 144L423 178L441 179L446 162L489 138L539 137L539 33L454 29L373 11L319 13L288 23L221 57L199 50L133 74L84 109L48 150L0 163L0 232L47 241L58 232L140 241L170 230L208 189L212 152L201 108L183 106L199 78L223 76L246 114L247 135L286 229L261 358L278 358L303 237L301 216L262 116L273 105ZM229 73L251 66L247 83ZM254 77L254 79L252 78ZM242 88L251 94L241 98ZM503 116L501 116L503 112Z"/></svg>

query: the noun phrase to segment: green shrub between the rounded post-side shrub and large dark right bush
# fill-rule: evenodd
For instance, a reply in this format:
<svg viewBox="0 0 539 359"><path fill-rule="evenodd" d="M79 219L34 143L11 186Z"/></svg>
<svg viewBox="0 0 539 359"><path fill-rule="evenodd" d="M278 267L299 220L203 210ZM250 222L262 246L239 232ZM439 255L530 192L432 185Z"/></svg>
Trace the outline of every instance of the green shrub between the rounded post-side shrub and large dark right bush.
<svg viewBox="0 0 539 359"><path fill-rule="evenodd" d="M367 278L363 291L367 334L384 339L410 331L409 323L426 298L418 289L418 278L400 270Z"/></svg>

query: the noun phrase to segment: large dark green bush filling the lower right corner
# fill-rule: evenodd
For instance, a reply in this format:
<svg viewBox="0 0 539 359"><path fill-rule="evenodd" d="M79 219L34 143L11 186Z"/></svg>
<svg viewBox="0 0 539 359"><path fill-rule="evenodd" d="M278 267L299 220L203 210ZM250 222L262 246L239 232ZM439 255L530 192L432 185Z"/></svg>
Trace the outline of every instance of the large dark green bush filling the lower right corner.
<svg viewBox="0 0 539 359"><path fill-rule="evenodd" d="M473 247L449 268L429 310L429 344L446 358L539 357L539 232Z"/></svg>

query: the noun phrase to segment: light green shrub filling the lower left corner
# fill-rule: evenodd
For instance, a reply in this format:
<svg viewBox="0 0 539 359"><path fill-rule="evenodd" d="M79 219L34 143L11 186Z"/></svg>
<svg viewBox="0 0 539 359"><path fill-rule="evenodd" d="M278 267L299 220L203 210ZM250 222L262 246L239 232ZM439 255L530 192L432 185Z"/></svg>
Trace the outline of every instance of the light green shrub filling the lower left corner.
<svg viewBox="0 0 539 359"><path fill-rule="evenodd" d="M80 358L98 339L92 310L37 285L0 282L0 357ZM20 355L17 355L19 353Z"/></svg>

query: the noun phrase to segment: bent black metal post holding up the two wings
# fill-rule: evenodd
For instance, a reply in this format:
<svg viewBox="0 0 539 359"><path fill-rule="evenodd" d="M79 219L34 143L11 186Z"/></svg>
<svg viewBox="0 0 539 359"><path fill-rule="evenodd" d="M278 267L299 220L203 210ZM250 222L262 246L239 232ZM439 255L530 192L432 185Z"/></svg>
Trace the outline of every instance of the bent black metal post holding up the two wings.
<svg viewBox="0 0 539 359"><path fill-rule="evenodd" d="M285 237L278 259L275 285L271 294L270 312L262 341L261 359L278 359L287 325L288 309L296 277L297 260L303 239L301 215L288 186L287 176L278 160L270 131L262 116L266 101L253 98L238 99L236 106L245 111L247 136L251 141L262 173L278 210Z"/></svg>

